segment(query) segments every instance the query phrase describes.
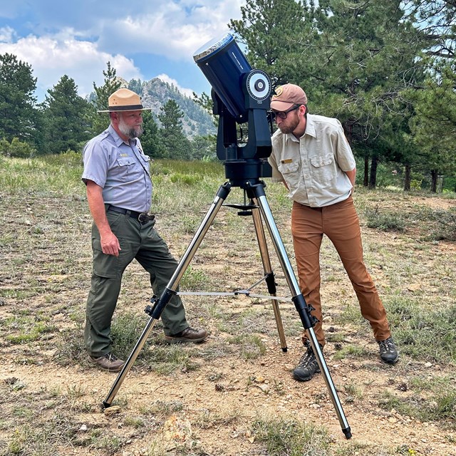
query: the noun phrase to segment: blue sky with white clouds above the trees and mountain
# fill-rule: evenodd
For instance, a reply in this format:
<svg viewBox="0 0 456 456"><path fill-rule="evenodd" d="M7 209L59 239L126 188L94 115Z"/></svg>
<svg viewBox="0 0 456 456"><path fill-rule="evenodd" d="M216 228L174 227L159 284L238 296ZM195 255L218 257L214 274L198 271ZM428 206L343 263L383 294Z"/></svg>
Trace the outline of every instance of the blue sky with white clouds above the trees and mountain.
<svg viewBox="0 0 456 456"><path fill-rule="evenodd" d="M191 95L210 86L193 55L229 31L244 0L4 0L0 54L29 63L36 96L68 75L85 96L103 85L110 61L118 76L160 77Z"/></svg>

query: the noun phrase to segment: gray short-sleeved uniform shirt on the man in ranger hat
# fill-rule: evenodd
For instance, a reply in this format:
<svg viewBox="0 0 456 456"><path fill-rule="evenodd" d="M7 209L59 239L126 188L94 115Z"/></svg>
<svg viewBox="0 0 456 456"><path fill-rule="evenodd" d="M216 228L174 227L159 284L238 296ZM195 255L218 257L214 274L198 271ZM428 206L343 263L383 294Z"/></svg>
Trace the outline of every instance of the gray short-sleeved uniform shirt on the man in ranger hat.
<svg viewBox="0 0 456 456"><path fill-rule="evenodd" d="M83 162L83 182L92 180L100 185L105 204L149 212L152 204L150 157L142 152L138 138L127 144L109 125L86 144Z"/></svg>

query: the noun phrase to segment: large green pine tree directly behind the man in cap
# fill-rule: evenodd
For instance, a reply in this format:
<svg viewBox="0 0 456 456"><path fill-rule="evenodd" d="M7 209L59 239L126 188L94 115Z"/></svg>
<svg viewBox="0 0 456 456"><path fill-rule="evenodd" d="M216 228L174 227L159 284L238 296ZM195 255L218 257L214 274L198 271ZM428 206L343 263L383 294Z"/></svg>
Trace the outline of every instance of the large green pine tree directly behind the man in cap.
<svg viewBox="0 0 456 456"><path fill-rule="evenodd" d="M361 159L393 155L392 125L410 113L401 90L423 79L416 56L425 37L405 18L400 0L248 0L243 21L232 26L248 43L248 56L263 59L272 81L304 88L311 113L343 123ZM280 12L281 14L275 14ZM274 41L266 33L274 24ZM258 63L257 66L261 66ZM366 185L375 187L375 172Z"/></svg>

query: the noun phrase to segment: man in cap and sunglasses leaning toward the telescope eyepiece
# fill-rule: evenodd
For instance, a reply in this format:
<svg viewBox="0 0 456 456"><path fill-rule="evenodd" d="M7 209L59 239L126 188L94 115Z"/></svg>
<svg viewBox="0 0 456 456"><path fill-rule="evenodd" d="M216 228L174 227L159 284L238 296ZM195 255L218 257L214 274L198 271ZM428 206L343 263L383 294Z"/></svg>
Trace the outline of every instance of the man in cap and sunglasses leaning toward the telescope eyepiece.
<svg viewBox="0 0 456 456"><path fill-rule="evenodd" d="M353 205L356 162L337 119L309 114L304 90L285 84L272 96L278 130L272 136L269 163L273 182L284 182L293 200L291 234L299 286L317 318L314 331L321 347L320 247L323 234L341 257L361 307L373 329L385 363L398 361L385 308L363 261L358 215ZM296 380L311 380L319 372L314 351L303 334L306 353L293 371Z"/></svg>

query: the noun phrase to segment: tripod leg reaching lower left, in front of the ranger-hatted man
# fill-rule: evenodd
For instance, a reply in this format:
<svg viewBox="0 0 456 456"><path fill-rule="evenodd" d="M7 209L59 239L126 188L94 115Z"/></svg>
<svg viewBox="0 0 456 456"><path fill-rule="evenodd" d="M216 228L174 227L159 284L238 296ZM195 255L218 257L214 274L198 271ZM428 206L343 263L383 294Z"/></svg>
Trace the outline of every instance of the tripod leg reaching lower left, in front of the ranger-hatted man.
<svg viewBox="0 0 456 456"><path fill-rule="evenodd" d="M224 200L227 199L231 187L232 185L229 182L227 182L219 188L217 196L214 198L214 201L212 202L212 206L209 207L206 216L199 225L195 237L193 237L192 242L190 242L190 245L187 247L185 254L183 255L182 259L177 265L177 268L174 274L172 275L170 281L168 282L165 291L163 291L162 295L160 296L160 299L158 299L158 301L155 301L153 307L150 308L149 306L147 306L146 312L150 315L150 319L147 322L147 325L145 326L144 330L142 331L142 334L138 342L136 343L135 348L133 348L133 351L130 353L128 360L125 361L125 365L123 366L122 371L120 371L118 377L115 379L115 382L112 388L110 389L110 392L106 396L105 400L103 400L104 407L110 407L110 405L113 403L113 400L120 388L120 385L122 385L125 376L128 374L128 371L130 371L130 368L131 366L133 366L133 363L135 363L135 360L138 357L141 348L144 346L144 343L147 340L147 336L149 336L150 331L152 331L152 328L155 326L155 323L160 318L160 315L162 314L163 309L165 309L166 304L170 301L172 296L176 294L177 286L179 285L180 279L182 279L185 270L190 264L190 261L192 261L192 258L194 257L199 247L199 244L201 244L202 240L204 239L204 235L207 233L207 230L214 221L214 218L217 215L217 212L219 212L219 209L222 206Z"/></svg>

